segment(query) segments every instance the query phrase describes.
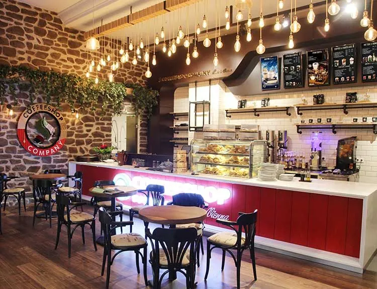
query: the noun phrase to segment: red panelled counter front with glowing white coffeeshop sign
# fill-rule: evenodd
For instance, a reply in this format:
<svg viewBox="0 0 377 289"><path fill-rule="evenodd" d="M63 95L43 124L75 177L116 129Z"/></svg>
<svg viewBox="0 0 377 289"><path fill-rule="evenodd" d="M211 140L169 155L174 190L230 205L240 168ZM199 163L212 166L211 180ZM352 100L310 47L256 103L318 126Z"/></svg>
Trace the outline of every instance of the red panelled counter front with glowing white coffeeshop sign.
<svg viewBox="0 0 377 289"><path fill-rule="evenodd" d="M206 224L220 226L216 219L236 220L238 212L258 209L258 236L359 258L362 199L79 164L76 170L83 173L84 195L100 179L138 189L162 184L165 204L179 192L201 194L209 203ZM121 201L128 206L145 202L141 196Z"/></svg>

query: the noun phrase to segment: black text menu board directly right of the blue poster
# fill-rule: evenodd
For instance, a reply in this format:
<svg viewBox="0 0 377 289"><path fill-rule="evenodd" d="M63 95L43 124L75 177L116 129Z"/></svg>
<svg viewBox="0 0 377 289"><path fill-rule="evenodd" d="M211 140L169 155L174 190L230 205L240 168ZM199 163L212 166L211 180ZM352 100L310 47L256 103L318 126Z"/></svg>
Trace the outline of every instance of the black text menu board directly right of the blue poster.
<svg viewBox="0 0 377 289"><path fill-rule="evenodd" d="M303 58L301 52L283 55L284 87L303 87Z"/></svg>

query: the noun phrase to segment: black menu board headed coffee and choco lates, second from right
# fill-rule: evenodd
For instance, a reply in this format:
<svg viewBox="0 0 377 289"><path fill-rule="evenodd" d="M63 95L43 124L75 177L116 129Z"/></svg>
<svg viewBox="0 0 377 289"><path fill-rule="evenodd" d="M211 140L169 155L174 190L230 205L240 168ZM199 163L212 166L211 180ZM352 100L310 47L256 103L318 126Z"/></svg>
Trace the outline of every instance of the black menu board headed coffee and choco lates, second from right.
<svg viewBox="0 0 377 289"><path fill-rule="evenodd" d="M355 45L342 45L332 48L333 83L356 82Z"/></svg>

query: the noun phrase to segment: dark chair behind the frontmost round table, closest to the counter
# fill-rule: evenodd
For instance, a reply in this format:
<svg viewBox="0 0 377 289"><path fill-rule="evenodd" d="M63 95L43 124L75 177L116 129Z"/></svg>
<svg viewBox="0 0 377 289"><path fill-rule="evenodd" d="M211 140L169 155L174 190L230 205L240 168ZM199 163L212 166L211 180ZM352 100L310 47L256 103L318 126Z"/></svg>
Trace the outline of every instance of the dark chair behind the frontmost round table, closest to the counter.
<svg viewBox="0 0 377 289"><path fill-rule="evenodd" d="M192 194L192 193L185 193L181 192L180 194L173 196L173 201L167 203L167 205L175 205L175 206L183 206L183 207L199 207L202 209L207 209L208 204L204 202L204 199L199 194ZM203 230L204 230L204 223L190 223L190 224L183 224L183 225L176 225L177 229L182 228L196 228L198 232L198 245L201 246L202 255L204 255L204 248L203 248ZM197 250L197 261L198 267L200 267L200 259L199 259L200 250Z"/></svg>

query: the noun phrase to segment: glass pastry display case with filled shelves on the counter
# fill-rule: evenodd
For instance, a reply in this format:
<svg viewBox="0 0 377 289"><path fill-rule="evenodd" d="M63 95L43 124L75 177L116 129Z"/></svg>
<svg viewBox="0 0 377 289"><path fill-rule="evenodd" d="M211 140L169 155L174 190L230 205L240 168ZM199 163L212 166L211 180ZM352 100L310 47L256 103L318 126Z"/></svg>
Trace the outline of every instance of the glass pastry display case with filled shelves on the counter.
<svg viewBox="0 0 377 289"><path fill-rule="evenodd" d="M198 139L191 147L191 171L195 173L252 178L266 162L267 142L262 140Z"/></svg>

